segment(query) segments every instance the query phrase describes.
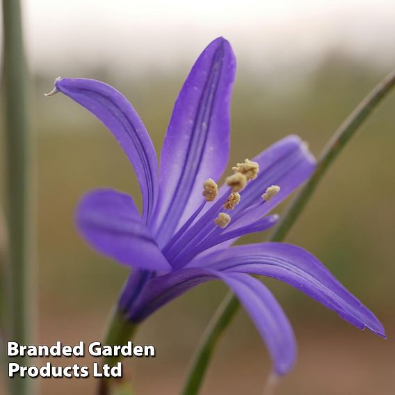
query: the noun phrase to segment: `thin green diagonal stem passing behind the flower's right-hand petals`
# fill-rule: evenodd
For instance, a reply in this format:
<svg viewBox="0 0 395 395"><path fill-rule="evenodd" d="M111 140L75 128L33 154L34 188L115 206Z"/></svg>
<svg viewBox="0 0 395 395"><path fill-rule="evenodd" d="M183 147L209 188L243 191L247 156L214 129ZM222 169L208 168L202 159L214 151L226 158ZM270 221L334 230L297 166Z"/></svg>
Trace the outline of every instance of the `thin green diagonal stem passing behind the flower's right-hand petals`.
<svg viewBox="0 0 395 395"><path fill-rule="evenodd" d="M283 241L289 230L302 213L307 202L312 197L316 186L321 181L326 170L330 167L336 156L346 146L348 140L355 135L364 121L369 117L378 104L387 96L395 85L395 70L393 70L369 95L350 113L348 118L340 125L332 138L323 148L317 161L316 170L307 184L296 195L289 208L284 213L282 220L269 241ZM232 321L239 307L239 301L229 292L220 303L216 313L211 318L207 330L204 332L202 341L192 362L191 369L186 379L183 395L198 394L207 372L213 350L216 347L220 335L225 331L227 325Z"/></svg>

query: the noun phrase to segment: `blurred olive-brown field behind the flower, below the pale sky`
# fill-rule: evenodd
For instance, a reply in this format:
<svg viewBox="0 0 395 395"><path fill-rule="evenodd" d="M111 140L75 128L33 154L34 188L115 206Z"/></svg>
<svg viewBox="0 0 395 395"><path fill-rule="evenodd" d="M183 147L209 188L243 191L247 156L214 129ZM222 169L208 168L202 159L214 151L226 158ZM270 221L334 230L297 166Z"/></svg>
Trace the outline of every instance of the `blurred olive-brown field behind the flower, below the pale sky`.
<svg viewBox="0 0 395 395"><path fill-rule="evenodd" d="M239 64L229 168L287 134L299 134L318 154L387 72L332 54L305 81L287 88L281 75L273 74L269 84L243 68L242 59ZM121 90L159 150L172 103L188 72L187 67L179 69L171 74L147 70L140 79L123 79L106 70L86 70L81 76L103 79ZM73 344L101 339L127 276L125 268L98 256L79 239L74 208L85 191L100 186L127 191L139 202L140 195L127 159L106 129L62 95L45 99L52 77L36 76L32 96L38 163L39 339L41 344ZM287 285L266 281L295 324L299 344L298 364L280 383L279 395L395 392L394 108L395 95L339 157L288 238L319 257L373 309L389 339L360 332ZM246 241L263 238L259 234ZM154 344L158 357L134 360L127 368L138 394L177 394L193 348L225 291L223 284L206 284L144 323L136 341ZM261 394L269 370L266 349L241 312L220 344L203 394ZM95 381L41 380L41 385L44 395L92 394Z"/></svg>

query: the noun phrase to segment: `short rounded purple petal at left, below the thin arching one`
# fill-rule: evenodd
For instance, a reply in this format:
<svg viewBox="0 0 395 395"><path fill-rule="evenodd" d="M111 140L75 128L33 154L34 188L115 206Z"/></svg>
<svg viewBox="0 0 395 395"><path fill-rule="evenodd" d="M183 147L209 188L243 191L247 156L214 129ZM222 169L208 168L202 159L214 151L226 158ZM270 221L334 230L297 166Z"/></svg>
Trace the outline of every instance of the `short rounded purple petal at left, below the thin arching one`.
<svg viewBox="0 0 395 395"><path fill-rule="evenodd" d="M103 255L149 271L171 270L129 195L111 189L87 193L76 222L84 239Z"/></svg>

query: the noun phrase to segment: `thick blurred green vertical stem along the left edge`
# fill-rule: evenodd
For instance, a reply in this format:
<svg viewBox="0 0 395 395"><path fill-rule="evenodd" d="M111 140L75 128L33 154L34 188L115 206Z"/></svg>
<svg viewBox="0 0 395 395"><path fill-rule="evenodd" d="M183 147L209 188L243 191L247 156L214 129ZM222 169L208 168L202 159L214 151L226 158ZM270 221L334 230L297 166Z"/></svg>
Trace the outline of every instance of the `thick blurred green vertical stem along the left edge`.
<svg viewBox="0 0 395 395"><path fill-rule="evenodd" d="M8 339L30 344L32 295L29 250L29 110L19 0L3 0L3 92L6 127L6 216L8 225ZM13 359L28 364L26 357ZM13 378L14 395L31 394L33 380Z"/></svg>

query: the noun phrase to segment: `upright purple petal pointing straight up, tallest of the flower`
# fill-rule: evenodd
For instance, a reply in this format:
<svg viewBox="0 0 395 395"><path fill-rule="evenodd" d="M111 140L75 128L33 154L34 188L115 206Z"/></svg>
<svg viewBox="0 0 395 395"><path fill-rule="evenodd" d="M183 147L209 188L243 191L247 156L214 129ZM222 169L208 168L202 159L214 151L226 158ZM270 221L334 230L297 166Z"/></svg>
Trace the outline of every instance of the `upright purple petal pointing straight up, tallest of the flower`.
<svg viewBox="0 0 395 395"><path fill-rule="evenodd" d="M229 42L217 38L199 56L179 92L161 152L156 233L162 241L198 207L203 182L218 179L225 169L235 70Z"/></svg>

